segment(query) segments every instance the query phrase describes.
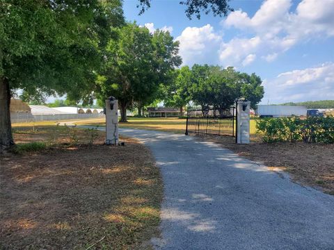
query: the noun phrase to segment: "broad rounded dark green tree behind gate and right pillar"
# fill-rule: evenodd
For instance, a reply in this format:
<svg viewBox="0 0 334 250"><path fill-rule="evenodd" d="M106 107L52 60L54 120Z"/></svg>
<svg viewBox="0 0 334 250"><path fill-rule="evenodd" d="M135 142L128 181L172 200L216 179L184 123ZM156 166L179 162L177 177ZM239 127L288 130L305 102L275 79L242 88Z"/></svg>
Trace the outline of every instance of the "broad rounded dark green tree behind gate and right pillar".
<svg viewBox="0 0 334 250"><path fill-rule="evenodd" d="M223 114L236 99L245 98L254 108L263 97L262 81L256 74L236 72L233 67L193 65L191 69L191 99L202 106L203 115L209 108Z"/></svg>

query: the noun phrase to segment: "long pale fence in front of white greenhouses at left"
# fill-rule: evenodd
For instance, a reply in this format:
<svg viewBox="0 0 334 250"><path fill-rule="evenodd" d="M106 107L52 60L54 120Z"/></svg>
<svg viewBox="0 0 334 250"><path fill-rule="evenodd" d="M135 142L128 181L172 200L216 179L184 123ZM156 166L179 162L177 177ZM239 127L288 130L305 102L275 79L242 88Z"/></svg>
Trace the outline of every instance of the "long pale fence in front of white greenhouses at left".
<svg viewBox="0 0 334 250"><path fill-rule="evenodd" d="M57 121L65 119L88 119L104 117L103 114L54 114L54 115L32 115L31 113L10 113L10 120L19 122Z"/></svg>

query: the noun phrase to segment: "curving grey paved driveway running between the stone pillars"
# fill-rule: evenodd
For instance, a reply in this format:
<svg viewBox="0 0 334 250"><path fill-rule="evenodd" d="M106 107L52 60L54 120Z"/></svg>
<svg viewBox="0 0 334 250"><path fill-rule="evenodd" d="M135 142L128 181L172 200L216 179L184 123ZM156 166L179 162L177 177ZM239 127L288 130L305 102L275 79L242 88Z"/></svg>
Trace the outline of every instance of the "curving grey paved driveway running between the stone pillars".
<svg viewBox="0 0 334 250"><path fill-rule="evenodd" d="M334 249L333 196L213 142L157 131L120 133L150 147L161 169L156 249Z"/></svg>

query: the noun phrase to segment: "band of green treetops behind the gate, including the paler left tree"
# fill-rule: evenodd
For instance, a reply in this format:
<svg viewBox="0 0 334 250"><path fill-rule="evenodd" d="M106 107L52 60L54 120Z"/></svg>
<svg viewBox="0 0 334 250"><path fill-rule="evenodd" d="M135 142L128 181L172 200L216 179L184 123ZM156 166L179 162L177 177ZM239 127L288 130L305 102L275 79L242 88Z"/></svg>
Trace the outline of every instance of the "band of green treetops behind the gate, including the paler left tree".
<svg viewBox="0 0 334 250"><path fill-rule="evenodd" d="M237 72L233 67L193 65L177 70L173 83L164 90L166 106L186 106L190 101L202 107L226 110L241 97L250 101L255 108L263 97L262 81L256 74ZM222 113L222 112L221 112Z"/></svg>

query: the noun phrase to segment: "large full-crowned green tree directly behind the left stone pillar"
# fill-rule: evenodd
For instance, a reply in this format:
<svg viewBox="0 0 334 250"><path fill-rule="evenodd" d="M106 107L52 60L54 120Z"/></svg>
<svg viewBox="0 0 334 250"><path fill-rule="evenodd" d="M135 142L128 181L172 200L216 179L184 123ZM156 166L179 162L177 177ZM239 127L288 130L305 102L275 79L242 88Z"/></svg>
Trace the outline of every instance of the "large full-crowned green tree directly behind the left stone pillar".
<svg viewBox="0 0 334 250"><path fill-rule="evenodd" d="M104 81L97 83L97 96L118 99L121 122L127 122L127 108L134 103L140 106L153 101L159 83L168 72L181 64L177 56L178 42L168 32L155 31L137 24L115 28L118 40L111 40L107 47L107 63Z"/></svg>

